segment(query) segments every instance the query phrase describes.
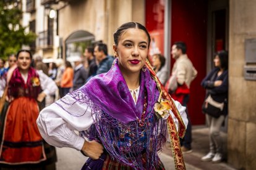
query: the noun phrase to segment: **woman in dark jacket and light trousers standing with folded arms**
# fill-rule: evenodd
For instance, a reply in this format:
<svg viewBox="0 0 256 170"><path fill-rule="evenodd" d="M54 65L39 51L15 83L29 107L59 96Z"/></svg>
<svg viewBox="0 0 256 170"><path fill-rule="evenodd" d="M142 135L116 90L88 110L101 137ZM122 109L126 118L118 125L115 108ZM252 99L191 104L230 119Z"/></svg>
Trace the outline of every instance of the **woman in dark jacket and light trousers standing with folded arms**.
<svg viewBox="0 0 256 170"><path fill-rule="evenodd" d="M211 98L216 102L224 102L224 108L218 118L206 113L207 123L210 127L210 152L203 156L201 160L219 163L223 160L223 142L220 136L220 128L225 116L228 115L228 52L218 52L213 61L216 68L211 70L203 79L201 85L207 89L205 99L211 95Z"/></svg>

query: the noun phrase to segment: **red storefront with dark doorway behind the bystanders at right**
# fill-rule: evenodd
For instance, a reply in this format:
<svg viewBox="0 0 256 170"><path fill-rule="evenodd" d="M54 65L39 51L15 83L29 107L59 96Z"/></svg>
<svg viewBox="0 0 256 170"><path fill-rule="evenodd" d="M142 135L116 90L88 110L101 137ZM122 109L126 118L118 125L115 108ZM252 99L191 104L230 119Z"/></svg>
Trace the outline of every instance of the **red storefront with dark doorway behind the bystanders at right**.
<svg viewBox="0 0 256 170"><path fill-rule="evenodd" d="M212 4L205 0L166 1L168 0L145 1L145 25L153 39L150 54L160 52L170 59L173 43L176 41L186 42L187 55L198 71L197 78L190 85L189 115L192 124L204 124L205 116L202 114L201 108L205 90L200 83L207 74L207 70L212 68L213 52L228 48L226 41L228 9L226 9L226 4ZM168 15L164 14L165 10L169 10ZM164 20L164 16L168 16L168 18ZM169 21L169 30L167 31L164 30L168 28L168 26L164 26L166 21ZM222 27L217 28L216 26ZM166 33L169 37L165 37ZM164 43L166 38L170 39L168 46ZM169 70L174 62L173 59L169 60Z"/></svg>

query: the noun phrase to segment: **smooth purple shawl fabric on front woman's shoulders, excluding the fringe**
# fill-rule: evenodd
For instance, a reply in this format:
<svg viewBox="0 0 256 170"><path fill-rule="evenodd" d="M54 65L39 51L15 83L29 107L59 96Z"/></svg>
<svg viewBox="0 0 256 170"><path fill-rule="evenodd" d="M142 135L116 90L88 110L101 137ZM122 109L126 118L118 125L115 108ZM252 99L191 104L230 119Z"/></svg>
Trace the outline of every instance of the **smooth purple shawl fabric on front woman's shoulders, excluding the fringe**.
<svg viewBox="0 0 256 170"><path fill-rule="evenodd" d="M150 72L146 70L140 73L140 94L135 105L132 95L127 87L126 81L118 67L118 60L114 60L114 65L108 73L97 75L90 79L85 86L81 87L93 103L101 110L106 111L109 116L118 119L122 123L129 123L140 119L143 111L144 89L148 94L148 107L155 104L155 95L159 95L155 81L150 77Z"/></svg>

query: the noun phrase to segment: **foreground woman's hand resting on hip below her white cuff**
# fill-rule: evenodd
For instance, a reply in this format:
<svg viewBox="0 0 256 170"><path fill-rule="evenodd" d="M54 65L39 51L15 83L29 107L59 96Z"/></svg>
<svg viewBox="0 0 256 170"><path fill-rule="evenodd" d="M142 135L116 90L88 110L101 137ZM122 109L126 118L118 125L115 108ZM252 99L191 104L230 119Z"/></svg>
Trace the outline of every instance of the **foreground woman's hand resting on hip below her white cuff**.
<svg viewBox="0 0 256 170"><path fill-rule="evenodd" d="M82 152L93 160L98 160L103 153L103 145L95 140L86 141L83 143Z"/></svg>

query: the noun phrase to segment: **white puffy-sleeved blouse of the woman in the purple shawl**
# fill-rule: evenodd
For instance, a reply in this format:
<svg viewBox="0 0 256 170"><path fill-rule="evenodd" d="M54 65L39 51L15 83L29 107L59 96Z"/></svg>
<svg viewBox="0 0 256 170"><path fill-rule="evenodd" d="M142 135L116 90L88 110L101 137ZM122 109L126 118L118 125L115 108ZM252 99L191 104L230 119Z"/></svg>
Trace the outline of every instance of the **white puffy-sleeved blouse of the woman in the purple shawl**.
<svg viewBox="0 0 256 170"><path fill-rule="evenodd" d="M93 121L95 115L92 115L92 110L86 103L76 102L75 99L68 94L64 96L64 98L66 101L69 101L69 103L74 104L69 105L68 103L62 102L62 100L58 100L57 103L63 108L66 108L71 114L63 110L57 103L53 103L40 112L36 123L41 136L48 144L54 145L55 147L70 147L81 150L85 139L78 136L75 131L87 130L95 123ZM186 107L182 107L181 103L177 101L174 101L174 103L179 113L181 113L184 124L187 126ZM80 116L72 116L72 113ZM178 129L178 120L171 110L170 113Z"/></svg>

